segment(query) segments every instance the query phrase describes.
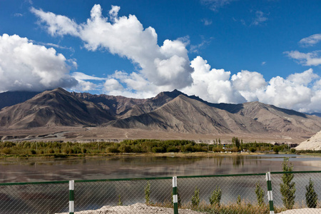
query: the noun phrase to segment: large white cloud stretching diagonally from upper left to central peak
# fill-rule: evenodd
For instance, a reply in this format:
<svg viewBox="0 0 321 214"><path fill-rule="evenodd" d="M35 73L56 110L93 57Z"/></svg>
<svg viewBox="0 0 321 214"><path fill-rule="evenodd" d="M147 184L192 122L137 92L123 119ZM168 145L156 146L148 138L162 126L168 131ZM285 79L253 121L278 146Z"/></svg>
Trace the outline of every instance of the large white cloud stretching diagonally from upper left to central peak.
<svg viewBox="0 0 321 214"><path fill-rule="evenodd" d="M119 6L112 6L109 17L102 15L101 6L96 4L91 9L91 18L86 23L76 24L66 16L31 9L39 17L41 23L51 35L77 36L85 42L88 50L107 49L112 54L124 56L138 64L139 71L128 78L140 76L141 79L153 83L157 91L160 88L173 90L189 86L193 79L190 73L187 43L180 39L165 40L158 46L155 29L143 25L134 15L118 17ZM126 81L125 83L131 83ZM141 85L130 84L133 91Z"/></svg>

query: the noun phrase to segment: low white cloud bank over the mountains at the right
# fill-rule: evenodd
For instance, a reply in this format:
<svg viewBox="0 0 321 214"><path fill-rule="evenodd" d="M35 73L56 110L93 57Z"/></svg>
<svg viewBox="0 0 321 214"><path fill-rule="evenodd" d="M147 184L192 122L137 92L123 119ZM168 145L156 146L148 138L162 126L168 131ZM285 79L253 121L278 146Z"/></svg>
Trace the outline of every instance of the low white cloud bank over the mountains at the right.
<svg viewBox="0 0 321 214"><path fill-rule="evenodd" d="M260 101L282 108L302 112L320 111L321 78L310 68L287 78L276 76L265 81L255 71L240 71L230 76L230 71L210 69L198 56L191 61L194 68L193 84L183 89L213 103L243 103Z"/></svg>

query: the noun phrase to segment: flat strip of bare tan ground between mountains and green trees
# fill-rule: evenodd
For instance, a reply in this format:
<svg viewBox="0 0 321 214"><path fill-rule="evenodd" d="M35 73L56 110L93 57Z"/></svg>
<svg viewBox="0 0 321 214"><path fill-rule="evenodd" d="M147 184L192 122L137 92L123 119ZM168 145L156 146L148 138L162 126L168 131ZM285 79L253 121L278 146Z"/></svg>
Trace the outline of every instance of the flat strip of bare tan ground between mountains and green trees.
<svg viewBox="0 0 321 214"><path fill-rule="evenodd" d="M222 143L230 143L236 136L247 142L265 143L301 143L312 136L305 133L230 133L230 134L202 134L177 133L165 131L148 131L142 129L126 129L111 127L43 127L22 130L1 129L2 141L71 141L87 143L91 141L119 142L124 139L161 139L161 140L194 140L196 142L213 143L220 138Z"/></svg>

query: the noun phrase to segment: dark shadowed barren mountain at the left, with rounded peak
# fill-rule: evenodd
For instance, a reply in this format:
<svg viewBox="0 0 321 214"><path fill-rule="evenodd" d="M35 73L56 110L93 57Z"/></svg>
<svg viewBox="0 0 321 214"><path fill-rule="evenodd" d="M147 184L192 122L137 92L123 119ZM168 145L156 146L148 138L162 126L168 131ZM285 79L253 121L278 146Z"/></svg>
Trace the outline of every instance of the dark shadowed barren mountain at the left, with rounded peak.
<svg viewBox="0 0 321 214"><path fill-rule="evenodd" d="M0 111L0 126L6 128L96 126L111 120L113 117L107 111L62 88L44 91L24 103Z"/></svg>

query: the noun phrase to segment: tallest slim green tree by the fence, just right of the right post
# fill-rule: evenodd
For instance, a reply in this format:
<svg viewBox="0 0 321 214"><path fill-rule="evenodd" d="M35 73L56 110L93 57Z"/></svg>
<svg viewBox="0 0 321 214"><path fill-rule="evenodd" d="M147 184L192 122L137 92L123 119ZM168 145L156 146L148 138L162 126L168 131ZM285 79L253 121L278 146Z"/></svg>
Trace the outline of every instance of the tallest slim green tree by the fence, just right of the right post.
<svg viewBox="0 0 321 214"><path fill-rule="evenodd" d="M289 158L284 158L282 162L282 170L283 172L292 172L293 165L290 163ZM282 195L283 205L287 209L292 209L295 203L295 183L292 182L294 178L293 173L284 173L282 175L282 183L280 183L280 192Z"/></svg>

